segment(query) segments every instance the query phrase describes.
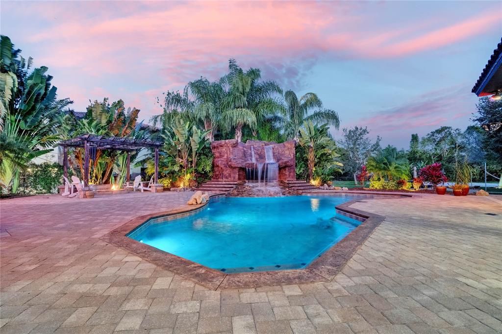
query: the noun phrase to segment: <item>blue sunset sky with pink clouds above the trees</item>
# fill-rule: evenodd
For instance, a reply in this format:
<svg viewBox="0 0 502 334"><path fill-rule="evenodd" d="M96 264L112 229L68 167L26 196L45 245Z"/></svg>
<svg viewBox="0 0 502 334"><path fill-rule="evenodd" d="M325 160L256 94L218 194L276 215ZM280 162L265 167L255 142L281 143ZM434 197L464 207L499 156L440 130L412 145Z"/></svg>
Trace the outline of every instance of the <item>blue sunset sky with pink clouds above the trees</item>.
<svg viewBox="0 0 502 334"><path fill-rule="evenodd" d="M443 125L465 128L472 86L502 36L502 2L0 2L0 30L60 98L123 99L147 122L156 97L229 58L297 95L314 92L344 127L407 147Z"/></svg>

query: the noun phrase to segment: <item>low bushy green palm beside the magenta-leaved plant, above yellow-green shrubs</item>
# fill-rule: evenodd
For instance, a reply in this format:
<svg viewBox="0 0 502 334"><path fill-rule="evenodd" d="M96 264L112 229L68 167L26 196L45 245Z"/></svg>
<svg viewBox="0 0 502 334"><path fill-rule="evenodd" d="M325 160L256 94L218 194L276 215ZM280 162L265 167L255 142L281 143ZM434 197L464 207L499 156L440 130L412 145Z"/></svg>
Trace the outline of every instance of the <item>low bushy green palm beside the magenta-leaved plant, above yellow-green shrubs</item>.
<svg viewBox="0 0 502 334"><path fill-rule="evenodd" d="M396 147L387 146L379 154L370 156L366 169L373 173L372 179L401 180L410 178L410 165L406 158L399 157Z"/></svg>

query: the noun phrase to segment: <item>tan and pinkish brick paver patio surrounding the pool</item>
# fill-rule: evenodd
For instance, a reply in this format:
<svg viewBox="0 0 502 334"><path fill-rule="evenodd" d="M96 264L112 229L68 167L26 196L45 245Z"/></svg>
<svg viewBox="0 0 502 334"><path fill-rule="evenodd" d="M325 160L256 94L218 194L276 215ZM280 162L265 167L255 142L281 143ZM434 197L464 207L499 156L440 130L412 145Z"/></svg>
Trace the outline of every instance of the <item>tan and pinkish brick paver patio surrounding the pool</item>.
<svg viewBox="0 0 502 334"><path fill-rule="evenodd" d="M2 334L502 332L500 200L357 203L386 220L328 283L212 291L100 240L190 195L0 202Z"/></svg>

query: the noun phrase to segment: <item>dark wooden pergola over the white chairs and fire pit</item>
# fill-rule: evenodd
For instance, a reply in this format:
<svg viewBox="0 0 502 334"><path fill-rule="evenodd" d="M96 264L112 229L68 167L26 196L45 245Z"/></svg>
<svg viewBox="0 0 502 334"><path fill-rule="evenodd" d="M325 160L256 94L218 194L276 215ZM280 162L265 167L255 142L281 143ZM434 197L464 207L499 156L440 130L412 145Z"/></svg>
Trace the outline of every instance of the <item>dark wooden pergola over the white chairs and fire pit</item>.
<svg viewBox="0 0 502 334"><path fill-rule="evenodd" d="M103 150L120 150L127 152L127 181L131 181L131 151L142 148L155 149L155 183L159 180L159 147L162 146L161 141L153 141L148 139L133 139L123 137L99 136L95 134L84 134L78 137L63 140L59 143L63 147L63 173L65 178L68 178L68 147L83 147L84 148L84 186L89 185L89 160L90 148Z"/></svg>

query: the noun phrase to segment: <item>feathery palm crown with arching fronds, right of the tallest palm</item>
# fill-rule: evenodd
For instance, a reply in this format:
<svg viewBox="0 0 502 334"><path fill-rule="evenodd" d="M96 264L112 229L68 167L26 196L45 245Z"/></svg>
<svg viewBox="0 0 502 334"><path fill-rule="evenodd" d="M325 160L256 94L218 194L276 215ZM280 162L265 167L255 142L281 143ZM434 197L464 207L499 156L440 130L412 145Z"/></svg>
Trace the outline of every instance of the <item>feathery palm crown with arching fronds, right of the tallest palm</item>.
<svg viewBox="0 0 502 334"><path fill-rule="evenodd" d="M338 113L331 109L324 109L321 99L314 93L306 93L298 99L295 92L288 90L284 93L286 118L284 130L290 139L298 141L298 132L304 122L326 123L336 129L340 126Z"/></svg>

